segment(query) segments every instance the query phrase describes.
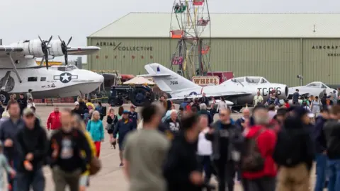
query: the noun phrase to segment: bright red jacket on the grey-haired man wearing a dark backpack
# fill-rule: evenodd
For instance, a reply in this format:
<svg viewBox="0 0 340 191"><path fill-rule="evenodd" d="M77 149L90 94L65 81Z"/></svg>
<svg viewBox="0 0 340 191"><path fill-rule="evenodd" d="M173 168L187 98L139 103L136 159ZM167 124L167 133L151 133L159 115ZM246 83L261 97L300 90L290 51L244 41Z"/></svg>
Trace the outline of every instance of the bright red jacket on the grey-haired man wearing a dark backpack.
<svg viewBox="0 0 340 191"><path fill-rule="evenodd" d="M261 129L263 129L263 132L257 137L257 146L264 159L264 168L259 172L244 172L243 177L246 179L263 178L265 176L275 177L277 173L276 164L272 157L276 145L276 132L261 125L255 125L249 129L245 137L246 139L254 138Z"/></svg>

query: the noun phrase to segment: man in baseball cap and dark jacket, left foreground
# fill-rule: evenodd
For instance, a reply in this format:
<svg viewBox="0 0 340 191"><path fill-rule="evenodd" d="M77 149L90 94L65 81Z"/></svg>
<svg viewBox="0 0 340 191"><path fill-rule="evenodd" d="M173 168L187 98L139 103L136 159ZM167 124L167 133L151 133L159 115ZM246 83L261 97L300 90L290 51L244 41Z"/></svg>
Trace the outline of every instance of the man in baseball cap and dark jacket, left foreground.
<svg viewBox="0 0 340 191"><path fill-rule="evenodd" d="M18 150L17 187L26 190L27 187L39 187L45 190L45 178L42 166L47 156L47 134L35 117L31 108L23 110L24 127L16 135Z"/></svg>

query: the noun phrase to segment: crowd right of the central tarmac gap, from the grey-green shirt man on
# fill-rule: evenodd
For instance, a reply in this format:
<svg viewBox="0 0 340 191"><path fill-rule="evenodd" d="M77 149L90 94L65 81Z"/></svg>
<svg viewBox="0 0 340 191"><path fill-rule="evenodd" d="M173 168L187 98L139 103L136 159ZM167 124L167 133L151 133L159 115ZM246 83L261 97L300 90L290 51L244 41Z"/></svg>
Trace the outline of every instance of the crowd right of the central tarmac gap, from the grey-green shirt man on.
<svg viewBox="0 0 340 191"><path fill-rule="evenodd" d="M252 112L246 108L237 120L227 107L208 108L205 96L186 100L179 110L165 95L142 108L140 130L123 141L130 190L223 191L235 183L246 191L311 190L313 162L314 190L340 190L337 100L323 105L310 96L278 108L273 95L271 105L256 96Z"/></svg>

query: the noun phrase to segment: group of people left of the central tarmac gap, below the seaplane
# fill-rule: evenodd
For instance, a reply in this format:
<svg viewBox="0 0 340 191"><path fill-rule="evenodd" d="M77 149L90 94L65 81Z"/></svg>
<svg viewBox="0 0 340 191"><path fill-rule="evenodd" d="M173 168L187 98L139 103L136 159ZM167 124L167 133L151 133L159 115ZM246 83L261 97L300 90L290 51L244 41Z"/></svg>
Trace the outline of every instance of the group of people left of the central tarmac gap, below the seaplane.
<svg viewBox="0 0 340 191"><path fill-rule="evenodd" d="M6 179L10 191L45 190L44 166L51 168L55 190L86 190L89 175L101 169L101 104L94 107L91 100L79 98L74 110L55 107L45 128L30 91L19 96L11 95L6 110L0 104L1 190Z"/></svg>

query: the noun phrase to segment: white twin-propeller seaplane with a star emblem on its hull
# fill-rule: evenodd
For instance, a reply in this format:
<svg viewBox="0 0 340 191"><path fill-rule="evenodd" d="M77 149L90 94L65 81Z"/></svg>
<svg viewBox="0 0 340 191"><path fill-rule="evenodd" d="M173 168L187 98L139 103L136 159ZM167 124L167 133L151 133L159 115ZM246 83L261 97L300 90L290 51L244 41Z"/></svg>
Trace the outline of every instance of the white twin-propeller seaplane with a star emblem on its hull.
<svg viewBox="0 0 340 191"><path fill-rule="evenodd" d="M59 36L58 36L59 37ZM68 64L68 55L93 54L99 47L71 47L62 38L20 40L0 45L0 100L7 103L10 93L32 90L33 98L64 98L94 91L103 83L100 74ZM48 61L64 56L65 65L49 66ZM36 58L42 58L38 65ZM45 61L45 66L42 64Z"/></svg>

